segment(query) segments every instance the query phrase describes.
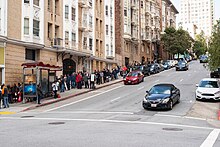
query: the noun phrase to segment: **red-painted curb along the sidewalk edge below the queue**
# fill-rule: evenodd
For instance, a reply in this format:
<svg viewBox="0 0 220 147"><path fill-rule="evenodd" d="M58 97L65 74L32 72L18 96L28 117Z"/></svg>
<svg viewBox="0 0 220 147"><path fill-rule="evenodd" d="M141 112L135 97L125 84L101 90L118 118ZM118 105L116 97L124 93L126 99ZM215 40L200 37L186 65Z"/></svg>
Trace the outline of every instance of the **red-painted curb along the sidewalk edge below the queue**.
<svg viewBox="0 0 220 147"><path fill-rule="evenodd" d="M28 110L33 110L33 109L36 109L36 108L39 108L39 107L43 107L43 106L47 106L47 105L50 105L50 104L53 104L53 103L57 103L57 102L60 102L60 101L64 101L66 99L69 99L69 98L72 98L72 97L76 97L76 96L79 96L79 95L83 95L85 93L89 93L91 91L95 91L95 90L98 90L98 89L101 89L101 88L104 88L104 87L108 87L108 86L111 86L111 85L114 85L114 84L117 84L117 83L120 83L122 82L123 80L120 80L120 81L117 81L117 82L114 82L114 83L110 83L110 84L107 84L107 85L103 85L103 86L100 86L100 87L97 87L96 89L90 89L90 90L87 90L87 91L84 91L84 92L80 92L80 93L77 93L77 94L72 94L72 95L69 95L69 96L66 96L66 97L63 97L63 98L58 98L54 101L50 101L50 102L45 102L45 103L42 103L42 104L39 104L39 105L36 105L36 106L31 106L31 107L28 107L20 112L25 112L25 111L28 111Z"/></svg>

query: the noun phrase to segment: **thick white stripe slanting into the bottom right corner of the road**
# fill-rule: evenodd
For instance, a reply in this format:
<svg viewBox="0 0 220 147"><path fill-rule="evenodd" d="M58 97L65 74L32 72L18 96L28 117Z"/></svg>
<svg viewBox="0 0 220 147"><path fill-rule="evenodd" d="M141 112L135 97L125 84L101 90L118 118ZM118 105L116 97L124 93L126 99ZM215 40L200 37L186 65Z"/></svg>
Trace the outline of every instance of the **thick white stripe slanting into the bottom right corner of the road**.
<svg viewBox="0 0 220 147"><path fill-rule="evenodd" d="M218 138L220 129L214 129L200 147L212 147Z"/></svg>

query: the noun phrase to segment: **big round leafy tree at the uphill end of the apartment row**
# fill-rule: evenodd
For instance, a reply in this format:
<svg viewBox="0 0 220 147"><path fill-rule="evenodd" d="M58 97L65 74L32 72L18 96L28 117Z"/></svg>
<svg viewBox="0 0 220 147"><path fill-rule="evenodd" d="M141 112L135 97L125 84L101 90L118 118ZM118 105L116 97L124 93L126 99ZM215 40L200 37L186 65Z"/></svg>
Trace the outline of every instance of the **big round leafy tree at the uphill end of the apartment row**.
<svg viewBox="0 0 220 147"><path fill-rule="evenodd" d="M165 50L172 54L184 54L191 47L193 39L182 28L176 30L173 27L166 28L161 36Z"/></svg>

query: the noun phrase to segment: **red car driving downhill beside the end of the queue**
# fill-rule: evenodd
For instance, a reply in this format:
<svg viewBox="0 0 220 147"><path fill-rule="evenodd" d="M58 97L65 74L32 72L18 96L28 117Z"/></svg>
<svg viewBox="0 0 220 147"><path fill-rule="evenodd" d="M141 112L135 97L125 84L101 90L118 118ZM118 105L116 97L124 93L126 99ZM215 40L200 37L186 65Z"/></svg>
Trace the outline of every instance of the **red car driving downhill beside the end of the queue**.
<svg viewBox="0 0 220 147"><path fill-rule="evenodd" d="M124 84L138 84L144 81L144 75L141 71L132 71L129 72L124 79Z"/></svg>

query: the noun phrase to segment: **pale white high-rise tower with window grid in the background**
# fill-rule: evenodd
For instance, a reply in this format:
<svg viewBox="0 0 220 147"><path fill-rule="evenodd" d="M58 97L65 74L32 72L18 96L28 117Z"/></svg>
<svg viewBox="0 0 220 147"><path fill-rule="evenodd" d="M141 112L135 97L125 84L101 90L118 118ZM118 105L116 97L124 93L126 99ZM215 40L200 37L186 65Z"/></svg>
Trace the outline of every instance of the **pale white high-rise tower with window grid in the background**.
<svg viewBox="0 0 220 147"><path fill-rule="evenodd" d="M181 0L181 24L195 24L207 37L214 25L214 0Z"/></svg>

